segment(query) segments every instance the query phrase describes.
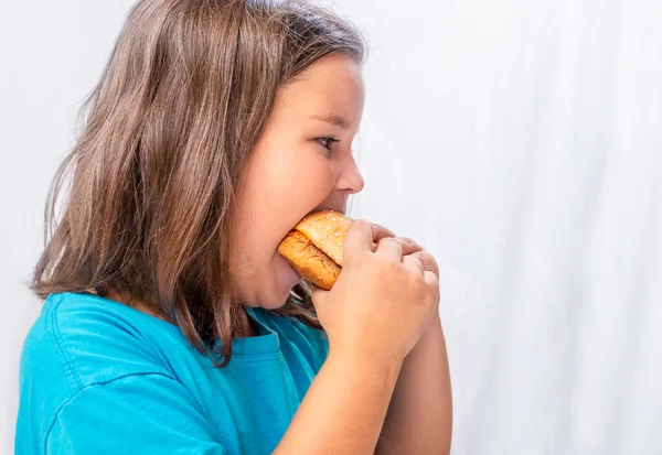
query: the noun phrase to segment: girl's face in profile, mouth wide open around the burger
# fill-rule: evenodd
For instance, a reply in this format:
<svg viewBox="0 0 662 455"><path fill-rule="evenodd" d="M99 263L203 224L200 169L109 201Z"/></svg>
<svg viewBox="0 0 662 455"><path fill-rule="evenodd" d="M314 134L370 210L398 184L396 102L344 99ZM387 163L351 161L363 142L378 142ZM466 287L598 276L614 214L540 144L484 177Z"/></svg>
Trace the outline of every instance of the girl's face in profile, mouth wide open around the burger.
<svg viewBox="0 0 662 455"><path fill-rule="evenodd" d="M281 306L300 278L278 243L310 212L344 213L363 188L352 154L363 104L360 66L341 54L278 93L237 194L231 273L243 304Z"/></svg>

